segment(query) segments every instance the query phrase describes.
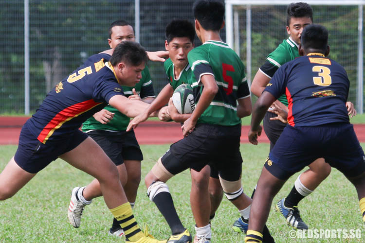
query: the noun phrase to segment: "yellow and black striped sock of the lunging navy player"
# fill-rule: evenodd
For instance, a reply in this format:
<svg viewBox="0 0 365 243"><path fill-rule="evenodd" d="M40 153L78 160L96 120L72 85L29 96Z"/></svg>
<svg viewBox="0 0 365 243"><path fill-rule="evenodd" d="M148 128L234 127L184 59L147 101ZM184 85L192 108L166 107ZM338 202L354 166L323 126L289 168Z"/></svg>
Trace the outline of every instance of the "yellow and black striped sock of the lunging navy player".
<svg viewBox="0 0 365 243"><path fill-rule="evenodd" d="M112 208L110 209L110 212L114 215L114 218L124 230L128 241L136 242L145 236L134 218L133 211L129 203Z"/></svg>

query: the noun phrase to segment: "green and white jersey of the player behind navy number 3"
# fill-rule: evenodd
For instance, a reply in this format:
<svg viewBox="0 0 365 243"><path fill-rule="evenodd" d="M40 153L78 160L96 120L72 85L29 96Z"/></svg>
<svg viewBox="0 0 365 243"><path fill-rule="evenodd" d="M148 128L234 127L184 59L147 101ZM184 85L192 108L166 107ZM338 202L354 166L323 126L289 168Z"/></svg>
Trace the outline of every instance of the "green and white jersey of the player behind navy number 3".
<svg viewBox="0 0 365 243"><path fill-rule="evenodd" d="M283 40L274 52L271 52L267 56L265 64L259 70L267 77L272 78L276 70L283 64L299 57L298 48L299 45L292 40L292 37ZM288 106L288 100L285 94L280 96L278 100Z"/></svg>

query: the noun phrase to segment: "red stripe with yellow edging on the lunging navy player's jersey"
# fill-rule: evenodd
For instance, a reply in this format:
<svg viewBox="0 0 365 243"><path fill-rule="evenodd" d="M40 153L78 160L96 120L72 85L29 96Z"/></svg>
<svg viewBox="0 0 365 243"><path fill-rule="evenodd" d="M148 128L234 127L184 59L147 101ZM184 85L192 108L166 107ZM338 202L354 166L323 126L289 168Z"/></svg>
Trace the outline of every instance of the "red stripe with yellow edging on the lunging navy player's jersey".
<svg viewBox="0 0 365 243"><path fill-rule="evenodd" d="M84 102L80 102L77 104L73 104L55 115L55 117L48 122L48 124L43 128L43 130L38 135L37 139L42 142L46 143L46 141L49 139L49 137L52 136L52 134L62 126L63 123L66 121L70 121L71 119L81 115L82 113L92 109L96 105L101 103L96 103L94 100L88 100Z"/></svg>

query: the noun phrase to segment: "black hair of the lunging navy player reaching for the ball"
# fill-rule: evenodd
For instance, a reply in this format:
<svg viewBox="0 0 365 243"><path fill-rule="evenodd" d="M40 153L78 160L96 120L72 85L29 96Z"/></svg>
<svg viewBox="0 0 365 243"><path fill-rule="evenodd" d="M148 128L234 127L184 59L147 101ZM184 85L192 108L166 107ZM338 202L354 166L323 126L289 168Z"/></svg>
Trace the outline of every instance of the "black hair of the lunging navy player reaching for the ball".
<svg viewBox="0 0 365 243"><path fill-rule="evenodd" d="M116 66L120 62L126 62L131 66L139 66L143 62L148 61L148 56L139 43L134 41L122 41L119 43L113 51L110 57L110 64Z"/></svg>

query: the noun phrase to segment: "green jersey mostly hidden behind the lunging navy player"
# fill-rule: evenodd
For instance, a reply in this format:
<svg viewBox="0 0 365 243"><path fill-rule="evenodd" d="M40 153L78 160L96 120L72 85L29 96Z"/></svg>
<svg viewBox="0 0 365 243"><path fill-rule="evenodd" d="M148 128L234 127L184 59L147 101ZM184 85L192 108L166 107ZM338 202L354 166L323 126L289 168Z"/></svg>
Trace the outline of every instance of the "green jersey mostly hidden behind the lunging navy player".
<svg viewBox="0 0 365 243"><path fill-rule="evenodd" d="M142 70L142 78L141 81L135 87L127 87L122 86L123 92L126 97L133 95L132 89L135 88L137 94L140 95L141 99L147 97L156 97L155 92L153 90L153 85L151 81L151 76L149 75L149 70L146 66L145 69ZM119 112L116 108L111 105L105 106L104 109L109 110L110 112L114 112L114 118L109 121L107 124L101 124L99 121L96 121L92 116L86 120L82 124L82 131L89 132L91 130L107 130L107 131L125 131L127 130L127 126L130 118Z"/></svg>

